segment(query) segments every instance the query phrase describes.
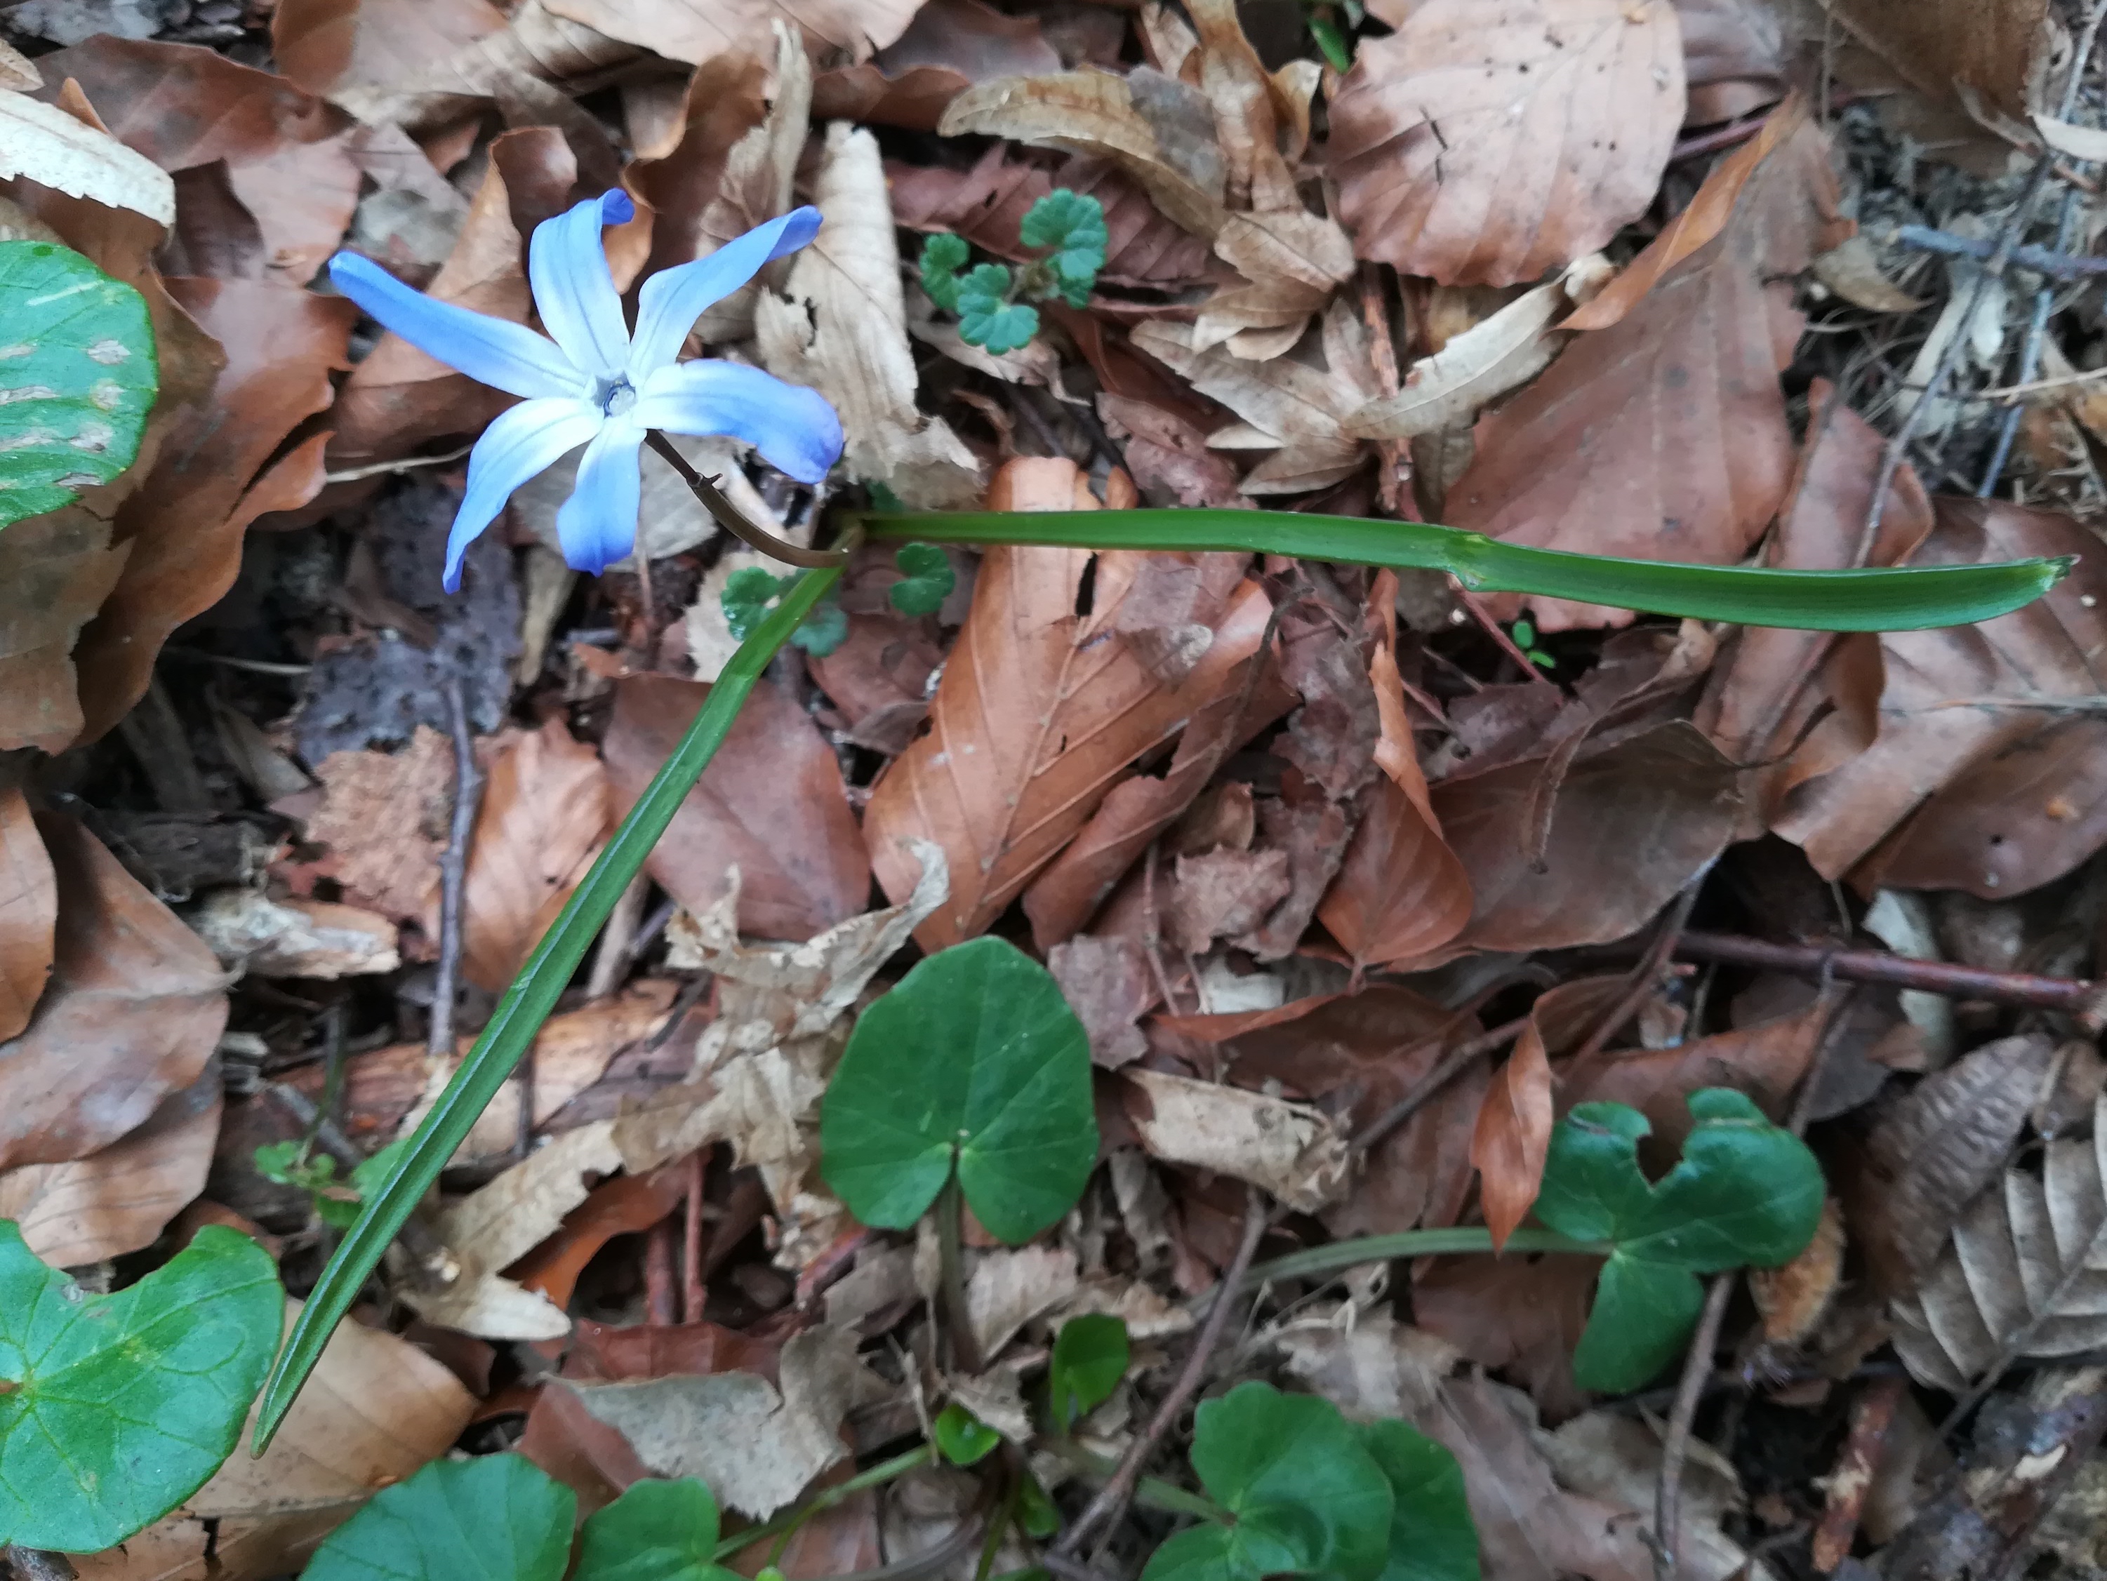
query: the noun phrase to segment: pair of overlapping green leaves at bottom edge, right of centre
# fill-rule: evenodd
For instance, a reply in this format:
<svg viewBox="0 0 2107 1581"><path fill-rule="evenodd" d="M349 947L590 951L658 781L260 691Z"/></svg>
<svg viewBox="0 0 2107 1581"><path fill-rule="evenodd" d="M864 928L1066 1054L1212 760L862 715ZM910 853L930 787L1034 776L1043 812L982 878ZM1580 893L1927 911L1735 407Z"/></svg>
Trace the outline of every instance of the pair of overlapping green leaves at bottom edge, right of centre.
<svg viewBox="0 0 2107 1581"><path fill-rule="evenodd" d="M1195 1412L1193 1471L1222 1518L1163 1543L1142 1581L1477 1581L1456 1457L1407 1423L1241 1383Z"/></svg>

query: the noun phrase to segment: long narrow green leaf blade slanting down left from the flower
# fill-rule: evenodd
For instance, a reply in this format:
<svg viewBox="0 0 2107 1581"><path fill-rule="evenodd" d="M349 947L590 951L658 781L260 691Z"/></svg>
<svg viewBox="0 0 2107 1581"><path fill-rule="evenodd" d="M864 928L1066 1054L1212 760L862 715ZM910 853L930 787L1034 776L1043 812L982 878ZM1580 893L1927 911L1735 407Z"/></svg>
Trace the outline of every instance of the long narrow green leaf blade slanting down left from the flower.
<svg viewBox="0 0 2107 1581"><path fill-rule="evenodd" d="M651 856L651 847L666 833L681 801L710 765L710 757L723 744L725 731L731 729L731 721L754 689L754 681L839 578L839 569L805 571L769 618L740 643L740 651L731 656L725 672L710 687L695 723L687 727L672 757L645 786L643 797L607 841L607 850L586 873L586 881L577 885L554 925L527 957L527 965L506 989L506 997L497 1001L497 1012L483 1029L483 1037L476 1039L468 1058L461 1060L461 1069L453 1073L438 1102L417 1126L394 1172L379 1189L367 1193L358 1223L352 1225L337 1254L322 1269L322 1277L308 1296L299 1322L293 1324L293 1336L263 1387L263 1408L253 1438L257 1455L278 1431L284 1412L293 1408L293 1398L320 1360L322 1345L337 1320L350 1311L358 1288L379 1265L381 1252L402 1231L411 1210L438 1180L447 1159L468 1138L476 1117L497 1096L506 1077L533 1043L548 1012L554 1010L556 997L569 987L571 974L607 921L607 913L615 909L615 900Z"/></svg>

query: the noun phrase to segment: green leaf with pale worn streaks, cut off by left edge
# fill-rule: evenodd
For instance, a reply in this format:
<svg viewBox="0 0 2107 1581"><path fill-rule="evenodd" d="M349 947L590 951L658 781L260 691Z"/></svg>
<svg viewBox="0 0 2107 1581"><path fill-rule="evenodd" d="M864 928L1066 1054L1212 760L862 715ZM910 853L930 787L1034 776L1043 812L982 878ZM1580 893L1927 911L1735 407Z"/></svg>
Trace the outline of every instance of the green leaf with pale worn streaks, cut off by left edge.
<svg viewBox="0 0 2107 1581"><path fill-rule="evenodd" d="M0 527L110 483L160 388L145 297L57 242L0 242Z"/></svg>

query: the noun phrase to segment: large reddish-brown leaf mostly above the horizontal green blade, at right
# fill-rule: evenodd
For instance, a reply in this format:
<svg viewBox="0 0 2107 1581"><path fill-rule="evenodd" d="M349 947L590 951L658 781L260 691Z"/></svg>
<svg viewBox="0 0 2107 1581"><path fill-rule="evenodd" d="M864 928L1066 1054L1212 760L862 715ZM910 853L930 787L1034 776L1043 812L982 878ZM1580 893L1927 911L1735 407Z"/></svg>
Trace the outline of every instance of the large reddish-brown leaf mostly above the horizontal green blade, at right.
<svg viewBox="0 0 2107 1581"><path fill-rule="evenodd" d="M1791 280L1833 242L1835 200L1827 139L1799 120L1742 183L1719 236L1479 419L1477 457L1448 491L1450 525L1538 548L1738 561L1791 483L1778 388L1801 323ZM1544 630L1629 620L1532 603Z"/></svg>

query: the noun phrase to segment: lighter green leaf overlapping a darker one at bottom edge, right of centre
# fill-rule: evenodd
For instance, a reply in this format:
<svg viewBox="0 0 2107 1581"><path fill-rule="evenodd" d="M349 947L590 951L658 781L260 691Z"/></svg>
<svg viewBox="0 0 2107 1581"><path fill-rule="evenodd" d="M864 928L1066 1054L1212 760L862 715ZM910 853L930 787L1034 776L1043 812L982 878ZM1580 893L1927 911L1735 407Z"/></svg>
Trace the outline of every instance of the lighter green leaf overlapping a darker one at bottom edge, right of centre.
<svg viewBox="0 0 2107 1581"><path fill-rule="evenodd" d="M1180 1533L1142 1581L1372 1581L1389 1560L1397 1495L1330 1400L1239 1383L1195 1412L1193 1469L1235 1526Z"/></svg>

